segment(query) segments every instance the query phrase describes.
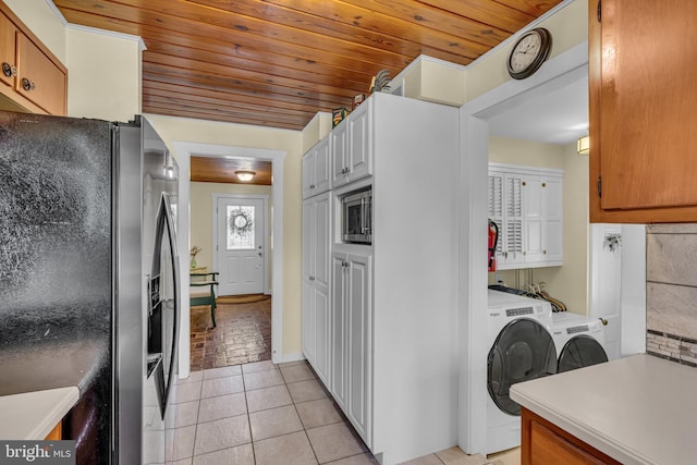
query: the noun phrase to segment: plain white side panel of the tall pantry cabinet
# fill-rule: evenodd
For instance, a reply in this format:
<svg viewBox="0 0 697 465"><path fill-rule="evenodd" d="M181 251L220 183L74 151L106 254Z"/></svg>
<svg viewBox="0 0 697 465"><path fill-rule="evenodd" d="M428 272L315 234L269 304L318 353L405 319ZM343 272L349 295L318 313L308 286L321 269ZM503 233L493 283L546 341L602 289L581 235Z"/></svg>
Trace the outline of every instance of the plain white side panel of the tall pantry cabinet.
<svg viewBox="0 0 697 465"><path fill-rule="evenodd" d="M367 103L372 149L367 442L383 464L395 464L457 443L458 112L379 93ZM335 193L351 189L350 184ZM335 242L333 252L358 248L350 247Z"/></svg>

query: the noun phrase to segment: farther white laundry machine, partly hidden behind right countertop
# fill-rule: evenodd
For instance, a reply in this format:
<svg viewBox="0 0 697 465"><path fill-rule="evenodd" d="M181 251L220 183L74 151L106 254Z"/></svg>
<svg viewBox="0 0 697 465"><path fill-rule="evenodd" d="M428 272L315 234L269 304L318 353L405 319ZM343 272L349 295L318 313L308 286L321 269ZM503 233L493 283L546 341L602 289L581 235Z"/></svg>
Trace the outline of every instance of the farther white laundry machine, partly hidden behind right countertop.
<svg viewBox="0 0 697 465"><path fill-rule="evenodd" d="M552 315L550 327L557 346L557 372L608 362L602 321L568 311Z"/></svg>

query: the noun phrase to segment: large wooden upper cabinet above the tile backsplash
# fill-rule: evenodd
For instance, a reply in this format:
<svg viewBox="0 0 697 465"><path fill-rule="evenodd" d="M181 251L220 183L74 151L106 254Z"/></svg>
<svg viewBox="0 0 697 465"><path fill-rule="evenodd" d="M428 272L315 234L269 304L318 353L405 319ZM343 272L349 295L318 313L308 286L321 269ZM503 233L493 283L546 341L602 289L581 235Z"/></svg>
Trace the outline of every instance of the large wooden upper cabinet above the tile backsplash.
<svg viewBox="0 0 697 465"><path fill-rule="evenodd" d="M588 9L590 221L697 221L697 2Z"/></svg>

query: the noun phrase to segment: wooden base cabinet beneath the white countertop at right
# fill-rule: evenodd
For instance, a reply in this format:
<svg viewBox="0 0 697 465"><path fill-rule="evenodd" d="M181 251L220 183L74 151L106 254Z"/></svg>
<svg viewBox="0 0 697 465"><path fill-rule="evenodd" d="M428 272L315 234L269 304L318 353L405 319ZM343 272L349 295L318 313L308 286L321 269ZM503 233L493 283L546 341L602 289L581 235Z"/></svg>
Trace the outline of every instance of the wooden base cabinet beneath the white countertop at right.
<svg viewBox="0 0 697 465"><path fill-rule="evenodd" d="M620 465L539 415L523 408L521 465Z"/></svg>

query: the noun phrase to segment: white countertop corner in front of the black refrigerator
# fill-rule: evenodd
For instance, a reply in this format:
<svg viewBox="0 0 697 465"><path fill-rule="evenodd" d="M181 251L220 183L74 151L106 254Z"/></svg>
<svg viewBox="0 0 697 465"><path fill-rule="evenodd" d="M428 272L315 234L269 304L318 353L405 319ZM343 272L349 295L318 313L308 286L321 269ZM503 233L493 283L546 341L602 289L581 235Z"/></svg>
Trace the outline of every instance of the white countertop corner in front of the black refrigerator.
<svg viewBox="0 0 697 465"><path fill-rule="evenodd" d="M46 438L78 399L77 387L0 396L0 439Z"/></svg>

